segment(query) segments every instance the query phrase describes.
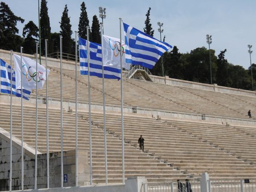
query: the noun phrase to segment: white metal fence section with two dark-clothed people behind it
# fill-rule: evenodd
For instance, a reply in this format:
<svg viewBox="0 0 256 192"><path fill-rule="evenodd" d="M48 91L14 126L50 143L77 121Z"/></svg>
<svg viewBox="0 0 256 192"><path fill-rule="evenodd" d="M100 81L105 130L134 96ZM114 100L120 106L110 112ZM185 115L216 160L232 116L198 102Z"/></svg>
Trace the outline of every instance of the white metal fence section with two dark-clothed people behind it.
<svg viewBox="0 0 256 192"><path fill-rule="evenodd" d="M144 183L148 192L201 192L200 180Z"/></svg>

